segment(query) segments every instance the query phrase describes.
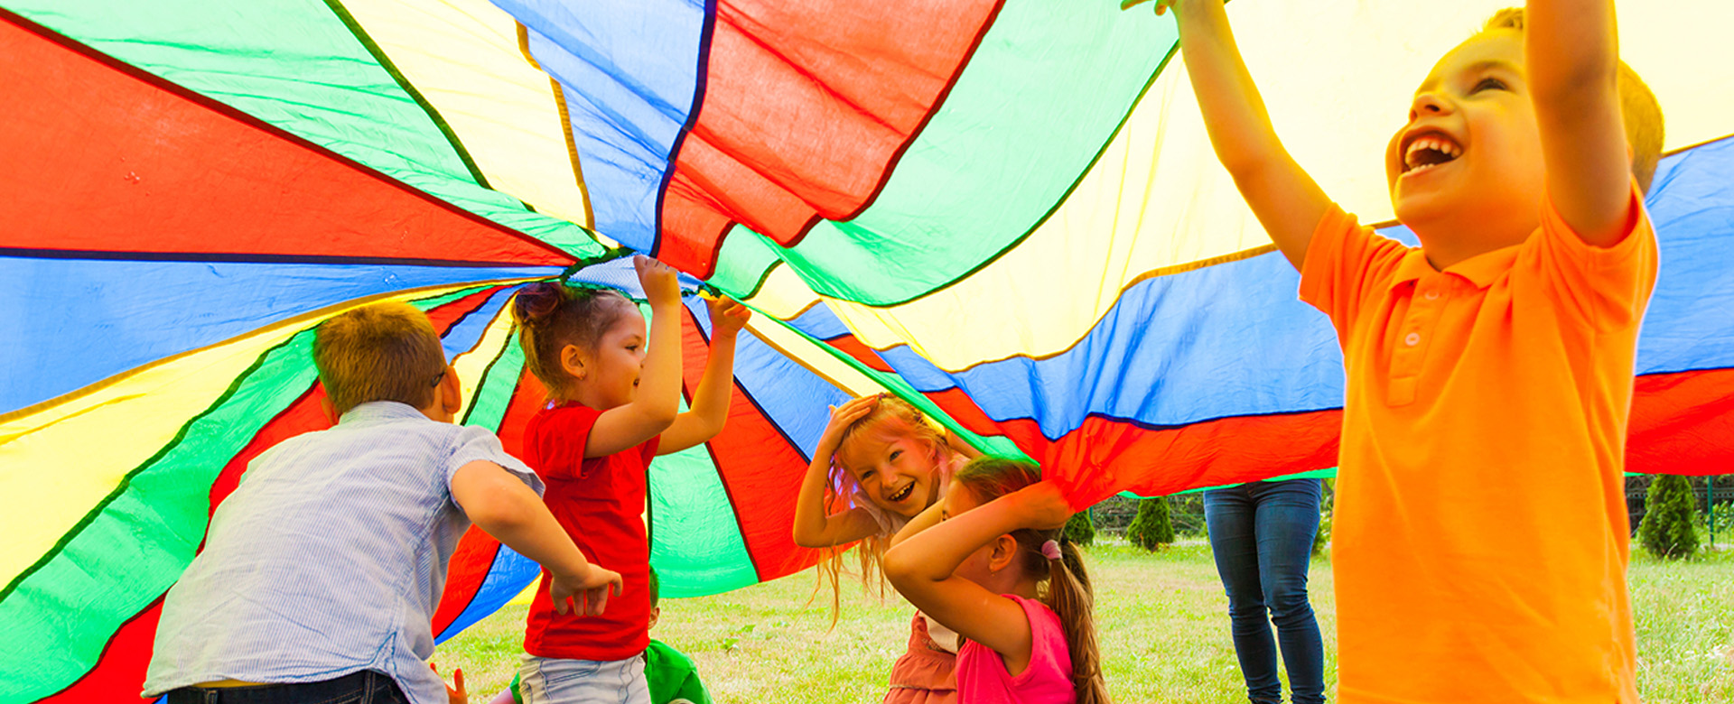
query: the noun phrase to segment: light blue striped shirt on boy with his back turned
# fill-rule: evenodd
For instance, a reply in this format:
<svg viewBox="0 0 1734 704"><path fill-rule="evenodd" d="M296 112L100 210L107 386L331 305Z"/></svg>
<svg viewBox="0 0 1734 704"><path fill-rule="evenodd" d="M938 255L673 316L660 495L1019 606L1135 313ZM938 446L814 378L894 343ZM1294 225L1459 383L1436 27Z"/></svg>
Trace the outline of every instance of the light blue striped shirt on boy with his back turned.
<svg viewBox="0 0 1734 704"><path fill-rule="evenodd" d="M446 564L470 527L451 477L477 460L543 492L494 433L388 401L255 458L163 600L144 695L376 669L413 704L446 704L425 661Z"/></svg>

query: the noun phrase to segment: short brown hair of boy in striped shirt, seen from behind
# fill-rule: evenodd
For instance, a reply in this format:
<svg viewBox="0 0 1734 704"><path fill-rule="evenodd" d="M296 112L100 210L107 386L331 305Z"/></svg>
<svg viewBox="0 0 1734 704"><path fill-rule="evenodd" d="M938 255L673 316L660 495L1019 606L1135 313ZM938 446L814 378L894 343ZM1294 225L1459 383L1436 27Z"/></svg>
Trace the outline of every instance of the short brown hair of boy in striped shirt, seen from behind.
<svg viewBox="0 0 1734 704"><path fill-rule="evenodd" d="M425 312L373 303L319 324L314 368L338 414L369 401L428 407L446 373L446 350Z"/></svg>

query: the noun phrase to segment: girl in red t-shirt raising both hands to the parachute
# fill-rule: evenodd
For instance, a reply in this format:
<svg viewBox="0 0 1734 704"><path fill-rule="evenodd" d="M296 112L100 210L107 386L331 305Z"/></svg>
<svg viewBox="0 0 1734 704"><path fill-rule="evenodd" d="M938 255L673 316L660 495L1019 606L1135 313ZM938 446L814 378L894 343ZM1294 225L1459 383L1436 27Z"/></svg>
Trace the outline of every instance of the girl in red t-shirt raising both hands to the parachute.
<svg viewBox="0 0 1734 704"><path fill-rule="evenodd" d="M600 616L560 616L543 574L518 671L527 704L650 702L645 472L657 454L716 437L728 418L735 336L751 314L709 302L711 357L692 409L678 413L680 284L657 260L636 257L633 267L650 302L649 335L638 307L614 290L538 283L512 305L524 364L550 395L524 428L524 461L548 484L543 499L572 541L624 579Z"/></svg>

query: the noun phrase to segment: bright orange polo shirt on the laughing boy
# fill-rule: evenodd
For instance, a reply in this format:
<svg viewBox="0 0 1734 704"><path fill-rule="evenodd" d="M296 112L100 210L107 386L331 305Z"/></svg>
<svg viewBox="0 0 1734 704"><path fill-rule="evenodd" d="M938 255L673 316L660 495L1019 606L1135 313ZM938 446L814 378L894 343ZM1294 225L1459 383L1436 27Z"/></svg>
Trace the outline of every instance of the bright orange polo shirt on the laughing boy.
<svg viewBox="0 0 1734 704"><path fill-rule="evenodd" d="M1545 206L1434 271L1332 206L1300 272L1347 368L1332 567L1337 697L1637 702L1625 439L1656 236Z"/></svg>

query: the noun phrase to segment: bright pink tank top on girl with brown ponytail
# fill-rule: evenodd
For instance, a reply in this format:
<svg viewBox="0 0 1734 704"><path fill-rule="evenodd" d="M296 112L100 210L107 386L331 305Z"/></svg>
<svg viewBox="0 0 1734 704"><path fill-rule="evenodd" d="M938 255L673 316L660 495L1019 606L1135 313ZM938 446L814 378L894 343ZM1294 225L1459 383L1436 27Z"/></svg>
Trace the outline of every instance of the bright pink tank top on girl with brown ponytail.
<svg viewBox="0 0 1734 704"><path fill-rule="evenodd" d="M957 650L957 701L969 704L1073 704L1072 652L1059 616L1033 598L1004 595L1030 619L1030 664L1016 676L987 645L968 642Z"/></svg>

